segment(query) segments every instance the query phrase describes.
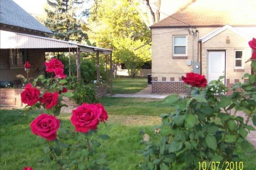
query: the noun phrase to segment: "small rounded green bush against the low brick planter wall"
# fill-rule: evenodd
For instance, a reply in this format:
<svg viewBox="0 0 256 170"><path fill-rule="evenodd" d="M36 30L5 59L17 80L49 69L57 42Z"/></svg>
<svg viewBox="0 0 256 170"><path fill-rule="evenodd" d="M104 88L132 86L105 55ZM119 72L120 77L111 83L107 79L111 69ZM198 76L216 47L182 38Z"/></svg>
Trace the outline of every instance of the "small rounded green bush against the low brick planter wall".
<svg viewBox="0 0 256 170"><path fill-rule="evenodd" d="M82 82L76 85L76 88L73 92L73 99L78 104L86 103L94 103L98 100L96 99L96 87L93 84L84 84Z"/></svg>

